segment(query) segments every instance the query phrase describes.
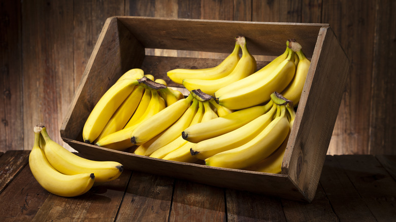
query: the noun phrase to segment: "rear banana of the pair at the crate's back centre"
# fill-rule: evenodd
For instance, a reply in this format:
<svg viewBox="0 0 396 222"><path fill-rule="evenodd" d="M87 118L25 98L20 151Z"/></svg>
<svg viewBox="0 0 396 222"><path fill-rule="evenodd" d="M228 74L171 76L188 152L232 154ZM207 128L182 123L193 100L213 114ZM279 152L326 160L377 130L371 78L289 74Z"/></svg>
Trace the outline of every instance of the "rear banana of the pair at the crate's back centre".
<svg viewBox="0 0 396 222"><path fill-rule="evenodd" d="M217 80L228 76L237 65L240 45L235 44L234 50L219 65L211 68L187 69L177 68L167 72L168 77L175 83L183 84L184 79Z"/></svg>

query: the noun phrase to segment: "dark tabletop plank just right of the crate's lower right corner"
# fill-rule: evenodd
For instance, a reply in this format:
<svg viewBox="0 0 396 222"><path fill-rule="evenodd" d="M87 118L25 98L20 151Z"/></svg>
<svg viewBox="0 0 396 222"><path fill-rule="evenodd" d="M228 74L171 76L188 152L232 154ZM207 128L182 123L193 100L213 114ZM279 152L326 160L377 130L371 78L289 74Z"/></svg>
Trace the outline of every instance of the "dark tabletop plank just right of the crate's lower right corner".
<svg viewBox="0 0 396 222"><path fill-rule="evenodd" d="M375 221L374 215L334 156L326 157L320 184L341 221Z"/></svg>

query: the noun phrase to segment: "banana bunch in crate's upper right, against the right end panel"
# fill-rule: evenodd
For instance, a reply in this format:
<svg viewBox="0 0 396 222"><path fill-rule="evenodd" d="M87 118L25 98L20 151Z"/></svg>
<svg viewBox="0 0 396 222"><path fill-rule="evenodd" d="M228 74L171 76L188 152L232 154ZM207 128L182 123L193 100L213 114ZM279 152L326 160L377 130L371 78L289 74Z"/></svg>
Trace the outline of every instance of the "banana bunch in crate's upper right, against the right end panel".
<svg viewBox="0 0 396 222"><path fill-rule="evenodd" d="M286 51L266 66L214 92L216 101L230 109L243 109L270 100L277 91L297 105L303 91L310 61L295 40L286 42Z"/></svg>

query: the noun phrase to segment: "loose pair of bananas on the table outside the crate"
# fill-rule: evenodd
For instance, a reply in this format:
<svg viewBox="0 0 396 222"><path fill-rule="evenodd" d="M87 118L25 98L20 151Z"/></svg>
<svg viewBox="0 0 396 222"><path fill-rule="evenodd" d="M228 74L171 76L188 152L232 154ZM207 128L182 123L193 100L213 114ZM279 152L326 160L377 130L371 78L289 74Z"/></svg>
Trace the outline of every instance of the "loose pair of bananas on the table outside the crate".
<svg viewBox="0 0 396 222"><path fill-rule="evenodd" d="M43 125L35 126L34 132L29 167L40 185L52 194L79 196L89 191L94 182L114 180L123 171L120 163L92 161L64 149L49 137Z"/></svg>

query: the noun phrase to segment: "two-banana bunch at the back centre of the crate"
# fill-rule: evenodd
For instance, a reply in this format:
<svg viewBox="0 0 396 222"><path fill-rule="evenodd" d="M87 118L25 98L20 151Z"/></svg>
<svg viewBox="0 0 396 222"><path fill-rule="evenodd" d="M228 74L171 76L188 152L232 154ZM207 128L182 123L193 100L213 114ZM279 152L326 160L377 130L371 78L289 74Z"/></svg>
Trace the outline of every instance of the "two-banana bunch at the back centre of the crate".
<svg viewBox="0 0 396 222"><path fill-rule="evenodd" d="M241 58L239 48L242 49ZM200 89L213 96L218 89L251 75L256 68L256 60L246 47L245 37L239 36L236 38L233 53L218 66L204 69L174 69L168 71L167 75L174 82L181 82L189 91Z"/></svg>

